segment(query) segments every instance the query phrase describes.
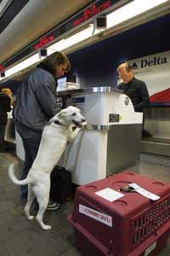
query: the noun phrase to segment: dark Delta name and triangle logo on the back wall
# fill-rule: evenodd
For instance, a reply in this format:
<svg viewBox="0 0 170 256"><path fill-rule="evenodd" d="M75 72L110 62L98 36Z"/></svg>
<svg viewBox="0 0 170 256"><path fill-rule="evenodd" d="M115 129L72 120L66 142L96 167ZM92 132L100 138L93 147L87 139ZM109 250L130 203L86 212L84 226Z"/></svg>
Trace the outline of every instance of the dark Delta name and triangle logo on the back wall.
<svg viewBox="0 0 170 256"><path fill-rule="evenodd" d="M133 69L137 69L137 68L158 66L162 64L167 64L167 57L154 57L150 60L144 59L139 61L139 64L137 64L136 62L133 62L132 67Z"/></svg>

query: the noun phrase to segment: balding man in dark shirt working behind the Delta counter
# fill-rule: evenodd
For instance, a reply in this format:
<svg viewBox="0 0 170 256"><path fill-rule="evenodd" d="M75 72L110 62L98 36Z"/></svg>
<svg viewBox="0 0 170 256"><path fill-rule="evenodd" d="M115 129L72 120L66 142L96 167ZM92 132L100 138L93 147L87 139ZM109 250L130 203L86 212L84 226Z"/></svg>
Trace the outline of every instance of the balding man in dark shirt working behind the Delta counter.
<svg viewBox="0 0 170 256"><path fill-rule="evenodd" d="M124 90L124 93L131 99L134 111L144 112L144 108L150 105L150 96L146 84L134 78L133 68L127 61L122 62L116 71L122 79L122 83L118 84L117 88ZM144 118L142 137L151 137L149 131L144 129Z"/></svg>

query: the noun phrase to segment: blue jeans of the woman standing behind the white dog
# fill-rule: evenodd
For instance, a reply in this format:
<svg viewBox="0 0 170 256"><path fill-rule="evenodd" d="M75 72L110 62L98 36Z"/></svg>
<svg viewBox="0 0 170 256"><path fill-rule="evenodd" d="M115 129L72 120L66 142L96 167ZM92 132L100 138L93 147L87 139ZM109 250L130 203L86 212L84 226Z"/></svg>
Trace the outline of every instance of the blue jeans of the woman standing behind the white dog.
<svg viewBox="0 0 170 256"><path fill-rule="evenodd" d="M33 130L18 122L16 122L15 125L16 130L19 132L20 137L22 138L23 146L25 149L25 162L21 174L21 179L24 179L30 171L32 163L37 156L37 151L42 138L42 131ZM27 185L22 185L20 191L20 197L27 198Z"/></svg>

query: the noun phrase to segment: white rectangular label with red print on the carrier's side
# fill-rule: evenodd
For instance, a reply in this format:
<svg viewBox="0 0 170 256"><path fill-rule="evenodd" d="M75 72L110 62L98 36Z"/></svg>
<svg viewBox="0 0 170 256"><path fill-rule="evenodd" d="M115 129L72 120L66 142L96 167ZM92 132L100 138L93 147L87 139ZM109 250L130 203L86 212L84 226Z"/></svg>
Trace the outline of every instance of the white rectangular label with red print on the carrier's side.
<svg viewBox="0 0 170 256"><path fill-rule="evenodd" d="M79 205L79 212L87 215L89 218L94 218L97 221L112 227L112 217L102 212L95 211L92 208Z"/></svg>

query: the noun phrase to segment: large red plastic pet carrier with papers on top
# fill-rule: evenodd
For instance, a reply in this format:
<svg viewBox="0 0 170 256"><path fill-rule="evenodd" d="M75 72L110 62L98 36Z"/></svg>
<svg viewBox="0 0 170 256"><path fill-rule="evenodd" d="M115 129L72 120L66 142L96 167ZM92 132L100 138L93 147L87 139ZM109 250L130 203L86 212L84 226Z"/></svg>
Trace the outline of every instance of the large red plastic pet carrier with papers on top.
<svg viewBox="0 0 170 256"><path fill-rule="evenodd" d="M170 232L170 184L127 171L80 186L68 219L84 256L157 256Z"/></svg>

